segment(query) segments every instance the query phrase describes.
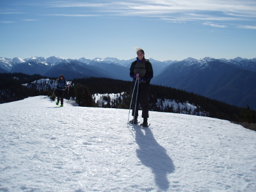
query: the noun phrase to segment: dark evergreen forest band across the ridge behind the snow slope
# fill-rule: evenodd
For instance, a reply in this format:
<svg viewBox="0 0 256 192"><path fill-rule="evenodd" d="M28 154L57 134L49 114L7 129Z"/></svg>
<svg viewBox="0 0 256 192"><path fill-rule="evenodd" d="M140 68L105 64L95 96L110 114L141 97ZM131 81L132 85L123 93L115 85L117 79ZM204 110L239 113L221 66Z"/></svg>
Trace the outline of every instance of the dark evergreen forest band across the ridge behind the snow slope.
<svg viewBox="0 0 256 192"><path fill-rule="evenodd" d="M49 89L47 92L45 90L38 89L38 86L35 84L33 86L22 86L23 83L31 83L38 79L47 79L40 75L29 76L21 73L13 74L0 74L0 103L12 102L15 100L24 99L26 97L32 97L36 95L51 95L53 89L50 86L47 86ZM52 78L55 79L55 78ZM67 79L68 80L68 79ZM90 77L83 79L73 79L72 85L69 88L68 93L65 93L66 99L76 99L76 102L79 106L100 106L104 108L122 108L129 109L131 102L131 93L132 93L132 82L131 81L122 81L109 78L100 78L100 77ZM92 95L97 93L122 93L120 97L116 97L114 100L105 97L104 100L107 100L107 104L95 104ZM54 95L55 96L55 95ZM177 103L188 102L196 106L195 114L206 114L205 116L220 118L231 121L246 120L246 115L244 109L238 108L236 106L231 106L224 102L218 100L209 99L195 93L189 93L184 90L178 90L175 88L170 88L166 86L159 85L150 85L150 98L149 105L150 110L152 111L163 111L171 113L180 113L180 111L188 111L188 109L173 109L172 106L157 106L157 100L169 99L175 100ZM251 110L250 115L255 113ZM188 111L188 114L191 114Z"/></svg>

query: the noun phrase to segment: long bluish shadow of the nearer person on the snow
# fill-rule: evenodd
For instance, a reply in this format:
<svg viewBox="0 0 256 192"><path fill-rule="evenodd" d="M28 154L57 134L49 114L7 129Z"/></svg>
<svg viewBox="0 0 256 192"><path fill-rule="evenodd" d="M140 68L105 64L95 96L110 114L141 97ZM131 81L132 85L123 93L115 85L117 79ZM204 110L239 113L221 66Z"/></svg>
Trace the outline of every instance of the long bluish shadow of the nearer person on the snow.
<svg viewBox="0 0 256 192"><path fill-rule="evenodd" d="M144 129L145 134L143 134L141 127L134 128L135 140L140 147L136 150L137 157L141 163L152 170L156 185L161 190L167 190L170 186L167 174L173 173L175 170L172 159L166 154L166 149L157 143L150 128Z"/></svg>

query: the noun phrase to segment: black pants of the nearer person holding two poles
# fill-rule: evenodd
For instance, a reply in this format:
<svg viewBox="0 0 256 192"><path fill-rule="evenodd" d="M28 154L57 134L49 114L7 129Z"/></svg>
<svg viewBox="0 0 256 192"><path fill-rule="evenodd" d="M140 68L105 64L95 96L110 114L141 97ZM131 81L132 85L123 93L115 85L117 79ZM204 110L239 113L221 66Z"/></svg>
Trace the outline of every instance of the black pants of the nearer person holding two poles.
<svg viewBox="0 0 256 192"><path fill-rule="evenodd" d="M138 89L138 83L136 83L136 87L134 89L133 97L132 97L132 116L134 116L134 108L135 108L135 102L136 102L136 95L137 95L137 89ZM134 88L135 82L132 82L132 90ZM138 118L138 110L139 105L142 108L142 118L148 118L148 95L149 95L149 83L139 83L139 90L138 90L138 97L137 97L137 104L136 104L136 113L134 118Z"/></svg>

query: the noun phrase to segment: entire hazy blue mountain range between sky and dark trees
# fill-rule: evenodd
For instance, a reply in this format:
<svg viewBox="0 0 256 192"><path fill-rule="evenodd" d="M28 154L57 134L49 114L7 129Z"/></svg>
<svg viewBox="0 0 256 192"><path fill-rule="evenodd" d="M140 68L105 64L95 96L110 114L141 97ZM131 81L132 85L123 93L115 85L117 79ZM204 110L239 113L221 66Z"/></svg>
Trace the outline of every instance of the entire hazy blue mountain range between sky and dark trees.
<svg viewBox="0 0 256 192"><path fill-rule="evenodd" d="M0 72L22 72L47 77L65 74L67 79L93 76L131 81L129 67L134 60L136 58L0 58ZM154 68L152 84L198 93L239 107L246 107L248 104L250 108L256 109L256 58L149 60Z"/></svg>

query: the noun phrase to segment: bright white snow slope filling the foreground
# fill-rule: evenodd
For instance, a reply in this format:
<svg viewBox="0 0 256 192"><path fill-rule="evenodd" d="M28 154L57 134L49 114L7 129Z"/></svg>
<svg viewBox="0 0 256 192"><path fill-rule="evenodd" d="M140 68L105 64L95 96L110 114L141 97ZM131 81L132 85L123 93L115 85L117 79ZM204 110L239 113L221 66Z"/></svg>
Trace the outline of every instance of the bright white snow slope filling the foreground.
<svg viewBox="0 0 256 192"><path fill-rule="evenodd" d="M0 191L256 191L256 132L241 125L150 111L132 131L127 109L64 105L0 104Z"/></svg>

